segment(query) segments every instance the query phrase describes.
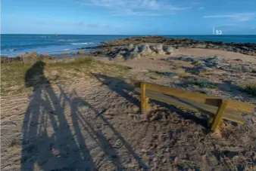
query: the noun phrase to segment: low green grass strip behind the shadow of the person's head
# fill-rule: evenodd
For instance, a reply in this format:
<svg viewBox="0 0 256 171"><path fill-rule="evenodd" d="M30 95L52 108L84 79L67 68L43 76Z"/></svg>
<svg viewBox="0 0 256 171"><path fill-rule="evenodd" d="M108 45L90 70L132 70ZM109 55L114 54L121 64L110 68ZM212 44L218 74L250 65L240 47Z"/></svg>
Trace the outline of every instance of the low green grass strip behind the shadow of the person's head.
<svg viewBox="0 0 256 171"><path fill-rule="evenodd" d="M51 84L71 84L78 79L91 78L91 72L103 75L112 75L113 73L114 75L123 75L128 69L131 69L130 67L117 64L102 63L101 61L94 60L92 57L84 57L62 63L55 63L54 60L43 62L45 63L43 72L39 72L33 64L23 64L21 62L2 63L1 95L31 92L34 84L39 84L41 78L47 78ZM33 82L34 78L30 78L31 73L35 71L39 75L36 78L36 83ZM35 77L35 74L32 75L32 77ZM26 77L29 78L29 84L33 82L32 86L27 85Z"/></svg>

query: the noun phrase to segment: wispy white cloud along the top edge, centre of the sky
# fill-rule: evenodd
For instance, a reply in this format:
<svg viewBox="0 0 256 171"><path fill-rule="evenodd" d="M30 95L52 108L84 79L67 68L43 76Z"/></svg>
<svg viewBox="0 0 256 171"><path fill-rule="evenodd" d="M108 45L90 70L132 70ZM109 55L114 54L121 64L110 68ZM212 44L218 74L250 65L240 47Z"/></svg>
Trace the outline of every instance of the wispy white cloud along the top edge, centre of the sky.
<svg viewBox="0 0 256 171"><path fill-rule="evenodd" d="M80 0L78 3L108 8L114 12L114 15L132 16L159 16L190 8L171 5L168 0Z"/></svg>

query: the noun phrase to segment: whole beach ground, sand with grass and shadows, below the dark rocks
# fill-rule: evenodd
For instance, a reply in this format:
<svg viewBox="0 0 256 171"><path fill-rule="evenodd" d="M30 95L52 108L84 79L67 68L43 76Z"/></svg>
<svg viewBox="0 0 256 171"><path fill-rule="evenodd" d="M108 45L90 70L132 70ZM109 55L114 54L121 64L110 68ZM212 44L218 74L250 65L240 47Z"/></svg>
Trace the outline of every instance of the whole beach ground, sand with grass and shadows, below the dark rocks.
<svg viewBox="0 0 256 171"><path fill-rule="evenodd" d="M147 120L130 86L133 78L256 105L242 87L254 84L255 56L179 47L43 61L2 64L2 170L256 169L255 111L214 133L203 114L151 100Z"/></svg>

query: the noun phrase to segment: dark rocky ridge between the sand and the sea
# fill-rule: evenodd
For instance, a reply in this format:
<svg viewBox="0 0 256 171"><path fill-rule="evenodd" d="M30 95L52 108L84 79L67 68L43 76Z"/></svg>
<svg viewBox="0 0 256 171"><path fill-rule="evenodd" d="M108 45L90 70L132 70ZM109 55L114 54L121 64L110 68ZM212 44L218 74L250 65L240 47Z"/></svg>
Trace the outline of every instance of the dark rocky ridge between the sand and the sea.
<svg viewBox="0 0 256 171"><path fill-rule="evenodd" d="M171 46L173 48L203 48L212 50L225 50L236 53L256 56L255 43L223 43L222 41L196 41L189 38L166 38L162 36L140 36L133 38L120 38L109 42L102 42L97 47L83 47L81 49L95 49L95 54L108 55L114 51L116 47L129 47L130 44L163 44L163 46Z"/></svg>

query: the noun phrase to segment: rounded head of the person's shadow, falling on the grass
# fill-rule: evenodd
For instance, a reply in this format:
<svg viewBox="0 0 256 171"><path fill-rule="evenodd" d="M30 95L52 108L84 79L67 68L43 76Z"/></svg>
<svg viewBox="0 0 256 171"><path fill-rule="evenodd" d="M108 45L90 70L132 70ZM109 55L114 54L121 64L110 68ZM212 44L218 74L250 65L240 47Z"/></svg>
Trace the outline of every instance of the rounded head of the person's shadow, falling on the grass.
<svg viewBox="0 0 256 171"><path fill-rule="evenodd" d="M43 84L47 79L44 75L45 63L42 60L36 61L30 69L27 70L25 75L25 86L36 87L39 84Z"/></svg>

